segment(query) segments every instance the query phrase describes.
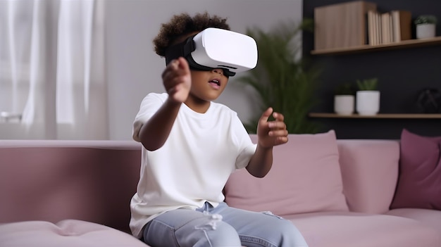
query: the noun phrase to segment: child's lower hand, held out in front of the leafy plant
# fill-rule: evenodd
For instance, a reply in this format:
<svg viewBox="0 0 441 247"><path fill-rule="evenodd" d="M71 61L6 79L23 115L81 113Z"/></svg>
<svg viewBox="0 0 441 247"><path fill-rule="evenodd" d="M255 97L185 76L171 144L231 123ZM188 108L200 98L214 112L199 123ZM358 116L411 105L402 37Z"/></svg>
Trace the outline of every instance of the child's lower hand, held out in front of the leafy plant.
<svg viewBox="0 0 441 247"><path fill-rule="evenodd" d="M273 115L274 121L268 121ZM273 112L273 108L268 108L261 115L257 125L258 144L264 148L271 148L288 142L288 131L286 129L285 117L281 113Z"/></svg>

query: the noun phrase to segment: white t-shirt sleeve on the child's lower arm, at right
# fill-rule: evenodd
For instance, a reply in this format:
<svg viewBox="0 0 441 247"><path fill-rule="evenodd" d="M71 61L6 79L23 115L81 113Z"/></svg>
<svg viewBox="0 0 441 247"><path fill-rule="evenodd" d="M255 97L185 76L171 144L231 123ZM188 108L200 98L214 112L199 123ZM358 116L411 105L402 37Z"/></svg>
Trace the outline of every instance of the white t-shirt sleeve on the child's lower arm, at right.
<svg viewBox="0 0 441 247"><path fill-rule="evenodd" d="M249 160L256 152L257 144L253 144L247 129L245 129L237 115L232 120L232 127L235 137L237 137L236 140L239 151L236 158L236 169L242 169L248 165Z"/></svg>

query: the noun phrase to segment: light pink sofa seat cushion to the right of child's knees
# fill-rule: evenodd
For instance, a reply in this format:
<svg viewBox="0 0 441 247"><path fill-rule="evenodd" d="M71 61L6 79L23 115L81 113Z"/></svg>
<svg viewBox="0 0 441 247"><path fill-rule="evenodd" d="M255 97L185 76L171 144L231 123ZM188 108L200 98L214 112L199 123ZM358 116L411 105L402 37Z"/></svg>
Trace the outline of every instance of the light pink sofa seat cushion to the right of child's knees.
<svg viewBox="0 0 441 247"><path fill-rule="evenodd" d="M439 232L417 220L392 215L323 212L287 215L309 247L435 247Z"/></svg>

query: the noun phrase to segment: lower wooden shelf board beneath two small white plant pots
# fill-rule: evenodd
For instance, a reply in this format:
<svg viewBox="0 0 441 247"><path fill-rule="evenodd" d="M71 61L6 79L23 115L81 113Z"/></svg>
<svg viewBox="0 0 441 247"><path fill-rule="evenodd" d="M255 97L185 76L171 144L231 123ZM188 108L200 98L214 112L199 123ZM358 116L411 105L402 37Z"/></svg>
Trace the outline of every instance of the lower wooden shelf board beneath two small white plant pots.
<svg viewBox="0 0 441 247"><path fill-rule="evenodd" d="M309 113L310 118L440 118L441 114L413 114L413 113L378 113L377 115L339 115L336 113Z"/></svg>

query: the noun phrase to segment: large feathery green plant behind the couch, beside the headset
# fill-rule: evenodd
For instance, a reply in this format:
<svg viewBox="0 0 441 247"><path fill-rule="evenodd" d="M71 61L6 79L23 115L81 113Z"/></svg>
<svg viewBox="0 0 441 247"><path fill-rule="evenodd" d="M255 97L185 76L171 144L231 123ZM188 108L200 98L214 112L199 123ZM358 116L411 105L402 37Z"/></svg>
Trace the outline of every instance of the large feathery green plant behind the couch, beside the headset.
<svg viewBox="0 0 441 247"><path fill-rule="evenodd" d="M318 103L313 94L319 72L307 68L305 58L299 58L301 42L299 32L313 30L313 20L302 23L281 23L270 32L248 28L247 34L256 40L259 61L239 82L251 86L259 97L259 112L250 122L244 123L249 133L256 133L257 123L269 106L285 116L287 130L291 134L316 133L317 123L311 122L308 113Z"/></svg>

